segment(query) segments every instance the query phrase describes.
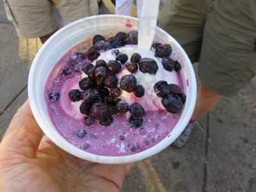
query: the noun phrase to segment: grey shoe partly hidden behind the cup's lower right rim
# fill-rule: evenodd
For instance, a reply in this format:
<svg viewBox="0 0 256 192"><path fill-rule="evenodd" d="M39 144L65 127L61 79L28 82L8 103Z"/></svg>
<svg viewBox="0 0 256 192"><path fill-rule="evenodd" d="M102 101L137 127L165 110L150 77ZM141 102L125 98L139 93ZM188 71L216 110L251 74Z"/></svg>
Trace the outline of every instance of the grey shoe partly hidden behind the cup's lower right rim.
<svg viewBox="0 0 256 192"><path fill-rule="evenodd" d="M189 137L191 136L191 133L193 132L194 129L195 129L195 122L192 122L192 123L189 122L189 124L184 129L182 134L180 134L179 138L177 138L177 140L175 140L171 144L171 146L176 148L184 147L186 143L188 143Z"/></svg>

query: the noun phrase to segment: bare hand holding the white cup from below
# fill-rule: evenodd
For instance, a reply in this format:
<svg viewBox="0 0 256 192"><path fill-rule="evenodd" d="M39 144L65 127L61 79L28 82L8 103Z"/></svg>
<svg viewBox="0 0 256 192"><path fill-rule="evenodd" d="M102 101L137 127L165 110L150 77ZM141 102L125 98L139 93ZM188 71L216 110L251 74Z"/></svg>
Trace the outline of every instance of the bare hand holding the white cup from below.
<svg viewBox="0 0 256 192"><path fill-rule="evenodd" d="M0 144L0 191L120 191L130 164L99 164L74 157L42 138L27 101Z"/></svg>

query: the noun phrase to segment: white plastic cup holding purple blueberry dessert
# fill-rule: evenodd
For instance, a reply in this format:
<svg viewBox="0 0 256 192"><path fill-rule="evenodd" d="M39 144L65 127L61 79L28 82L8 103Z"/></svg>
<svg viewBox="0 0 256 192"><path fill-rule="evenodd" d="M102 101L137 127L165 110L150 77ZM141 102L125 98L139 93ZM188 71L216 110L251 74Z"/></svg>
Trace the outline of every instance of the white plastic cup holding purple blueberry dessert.
<svg viewBox="0 0 256 192"><path fill-rule="evenodd" d="M180 116L179 122L164 140L137 154L127 156L99 156L85 152L69 143L52 124L49 113L47 112L47 104L44 97L45 82L52 68L58 63L61 56L80 42L92 38L93 35L115 35L118 31L138 30L138 24L138 19L120 15L87 17L61 28L45 42L36 54L28 79L28 96L31 110L42 131L44 131L58 147L68 153L96 163L121 164L139 161L153 156L168 147L176 140L188 124L196 102L195 72L186 52L172 36L168 35L168 33L160 28L156 28L156 39L170 44L173 51L176 52L176 56L179 58L180 64L182 65L180 73L184 82L184 92L187 95L184 111Z"/></svg>

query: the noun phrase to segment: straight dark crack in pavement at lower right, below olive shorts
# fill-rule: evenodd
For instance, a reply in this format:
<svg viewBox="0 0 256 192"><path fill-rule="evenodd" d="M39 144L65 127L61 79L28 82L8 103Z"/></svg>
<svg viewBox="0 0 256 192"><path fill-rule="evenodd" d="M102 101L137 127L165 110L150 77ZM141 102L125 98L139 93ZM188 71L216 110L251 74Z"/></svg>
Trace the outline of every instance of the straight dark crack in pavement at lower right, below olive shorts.
<svg viewBox="0 0 256 192"><path fill-rule="evenodd" d="M205 143L204 143L204 177L203 177L203 188L202 191L207 191L207 164L208 164L208 151L209 151L209 124L210 124L210 113L207 113L206 129L205 129Z"/></svg>

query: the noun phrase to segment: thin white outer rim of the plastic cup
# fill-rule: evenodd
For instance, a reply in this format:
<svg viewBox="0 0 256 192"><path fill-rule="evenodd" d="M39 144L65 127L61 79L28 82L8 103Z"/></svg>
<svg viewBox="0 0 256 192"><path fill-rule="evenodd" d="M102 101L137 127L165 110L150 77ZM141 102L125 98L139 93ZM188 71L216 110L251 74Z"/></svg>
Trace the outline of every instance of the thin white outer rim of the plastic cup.
<svg viewBox="0 0 256 192"><path fill-rule="evenodd" d="M170 145L174 140L176 140L179 137L179 135L181 134L183 129L173 129L172 132L170 132L170 134L172 134L172 137L170 137L170 139L166 140L166 138L167 138L167 136L166 136L166 138L159 141L159 143L157 143L153 147L150 147L147 150L143 150L142 152L139 152L136 154L126 155L126 156L100 156L100 155L92 154L89 152L85 152L84 150L81 150L80 148L75 147L74 145L72 145L72 143L69 143L67 140L65 140L65 138L63 138L60 134L55 134L55 135L52 134L50 131L52 129L52 127L48 127L45 124L44 118L40 114L40 109L36 105L36 98L35 98L35 95L33 94L33 92L34 92L33 79L35 77L36 65L37 65L40 55L44 51L45 47L49 46L51 44L52 40L56 36L60 35L62 33L62 31L65 31L68 28L72 28L72 26L79 24L80 22L83 22L84 20L90 20L90 19L95 19L95 18L100 18L100 17L108 17L108 18L119 17L119 18L139 21L139 19L137 19L135 17L129 17L129 16L125 16L125 15L96 15L96 16L86 17L84 19L76 20L76 21L68 24L67 26L64 26L63 28L58 30L56 33L54 33L54 35L52 35L45 42L45 44L42 45L40 50L37 52L35 59L33 60L33 63L31 65L31 69L30 69L29 77L28 77L28 97L29 97L29 102L30 102L30 106L31 106L31 111L36 119L36 122L38 123L38 125L40 126L42 131L44 131L45 135L50 140L52 140L56 145L58 145L58 147L62 148L69 154L72 154L81 159L93 161L95 163L105 163L105 164L120 164L120 163L131 163L134 161L140 161L147 157L153 156L154 154L157 154L164 148L168 147L168 145ZM190 93L191 94L191 102L189 104L187 115L184 116L184 120L182 122L180 122L180 127L186 127L186 125L188 124L188 122L191 118L191 115L193 113L193 109L195 108L195 103L196 103L195 73L194 73L191 61L188 58L188 55L186 54L184 49L182 49L180 44L171 35L166 33L166 31L164 31L163 29L161 29L159 27L156 27L156 29L158 31L161 31L161 33L164 33L164 35L168 36L175 43L175 45L177 45L177 47L179 47L180 52L182 52L182 55L184 55L184 59L188 63L189 71L191 72L191 80L192 80L192 82L190 82L190 84L191 84L191 93ZM55 127L54 127L54 129L55 129ZM169 134L169 136L170 136L170 134Z"/></svg>

